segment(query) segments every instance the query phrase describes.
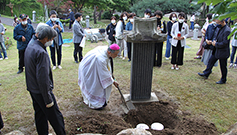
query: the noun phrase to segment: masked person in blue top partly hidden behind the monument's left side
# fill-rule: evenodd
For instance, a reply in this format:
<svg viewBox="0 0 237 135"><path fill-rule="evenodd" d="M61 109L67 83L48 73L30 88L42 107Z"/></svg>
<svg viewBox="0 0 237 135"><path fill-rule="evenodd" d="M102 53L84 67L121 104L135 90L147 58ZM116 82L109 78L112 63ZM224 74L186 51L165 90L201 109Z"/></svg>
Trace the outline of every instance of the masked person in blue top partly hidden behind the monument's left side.
<svg viewBox="0 0 237 135"><path fill-rule="evenodd" d="M132 30L132 28L133 28L133 22L134 22L133 17L134 17L134 13L131 13L131 14L128 16L129 22L128 22L127 25L126 25L125 30L127 30L127 31L131 31L131 30ZM132 49L132 48L131 48L131 45L132 45L131 42L127 42L127 48L128 48L128 62L131 61L131 52L132 52L132 50L131 50L131 49Z"/></svg>

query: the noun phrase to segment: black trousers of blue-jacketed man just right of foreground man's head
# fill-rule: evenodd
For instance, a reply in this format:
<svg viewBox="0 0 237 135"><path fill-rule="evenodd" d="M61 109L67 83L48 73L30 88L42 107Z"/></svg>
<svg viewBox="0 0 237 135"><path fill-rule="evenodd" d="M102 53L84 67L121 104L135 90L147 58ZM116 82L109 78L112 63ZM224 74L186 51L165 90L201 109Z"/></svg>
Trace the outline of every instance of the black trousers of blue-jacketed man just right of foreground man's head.
<svg viewBox="0 0 237 135"><path fill-rule="evenodd" d="M58 60L58 65L61 65L61 60L62 60L62 45L57 47L52 47L49 46L50 52L51 52L51 60L54 66L56 66L56 60L55 60L55 50L57 50L57 60Z"/></svg>

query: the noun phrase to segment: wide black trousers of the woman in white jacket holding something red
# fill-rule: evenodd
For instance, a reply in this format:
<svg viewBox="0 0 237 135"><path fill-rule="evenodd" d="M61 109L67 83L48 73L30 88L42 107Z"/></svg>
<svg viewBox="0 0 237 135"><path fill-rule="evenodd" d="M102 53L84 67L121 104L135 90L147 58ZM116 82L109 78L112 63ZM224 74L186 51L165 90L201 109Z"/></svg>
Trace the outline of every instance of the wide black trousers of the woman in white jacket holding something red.
<svg viewBox="0 0 237 135"><path fill-rule="evenodd" d="M184 47L181 47L181 43L178 42L177 46L172 46L172 58L171 64L183 65Z"/></svg>

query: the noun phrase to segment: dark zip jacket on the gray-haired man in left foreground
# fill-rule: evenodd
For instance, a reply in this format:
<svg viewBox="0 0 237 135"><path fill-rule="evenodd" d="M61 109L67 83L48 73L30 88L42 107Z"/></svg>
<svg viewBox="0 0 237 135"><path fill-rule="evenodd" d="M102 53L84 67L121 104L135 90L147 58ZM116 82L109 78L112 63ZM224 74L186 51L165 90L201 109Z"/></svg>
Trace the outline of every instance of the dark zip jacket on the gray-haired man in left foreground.
<svg viewBox="0 0 237 135"><path fill-rule="evenodd" d="M53 76L46 48L40 41L33 40L25 50L24 60L27 90L41 94L45 105L50 104Z"/></svg>

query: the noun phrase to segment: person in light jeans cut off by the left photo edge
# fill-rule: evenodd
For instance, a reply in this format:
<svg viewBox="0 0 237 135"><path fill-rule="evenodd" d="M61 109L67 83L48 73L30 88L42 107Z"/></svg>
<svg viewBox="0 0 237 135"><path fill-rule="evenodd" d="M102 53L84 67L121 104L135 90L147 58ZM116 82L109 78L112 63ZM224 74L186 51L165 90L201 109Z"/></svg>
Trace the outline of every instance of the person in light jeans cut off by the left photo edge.
<svg viewBox="0 0 237 135"><path fill-rule="evenodd" d="M1 22L1 19L0 19L0 46L2 48L4 59L8 59L7 49L6 49L6 46L5 46L5 43L4 43L4 37L3 37L4 34L5 34L5 28L4 28L4 26ZM1 52L0 52L0 60L3 60Z"/></svg>

